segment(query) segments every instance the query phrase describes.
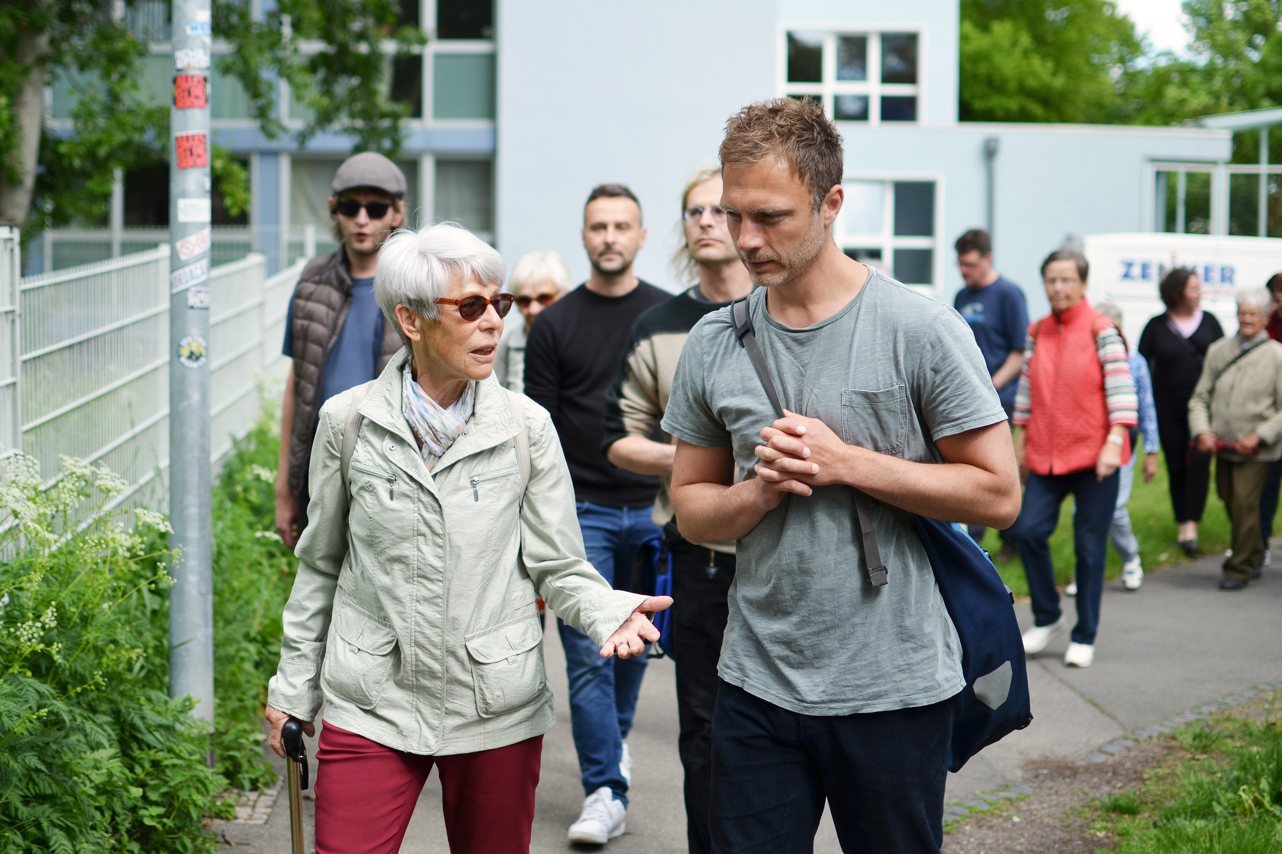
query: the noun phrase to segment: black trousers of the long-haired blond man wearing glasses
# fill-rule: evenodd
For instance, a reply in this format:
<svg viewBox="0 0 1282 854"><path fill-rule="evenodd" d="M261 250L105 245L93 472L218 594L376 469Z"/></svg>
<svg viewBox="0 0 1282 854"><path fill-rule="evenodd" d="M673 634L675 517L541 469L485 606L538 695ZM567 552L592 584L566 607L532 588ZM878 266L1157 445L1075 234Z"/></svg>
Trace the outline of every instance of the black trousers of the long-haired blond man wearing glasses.
<svg viewBox="0 0 1282 854"><path fill-rule="evenodd" d="M677 750L686 771L686 836L690 854L708 854L717 662L729 613L726 597L735 580L735 556L682 539L670 522L663 533L672 552L672 643L681 722Z"/></svg>

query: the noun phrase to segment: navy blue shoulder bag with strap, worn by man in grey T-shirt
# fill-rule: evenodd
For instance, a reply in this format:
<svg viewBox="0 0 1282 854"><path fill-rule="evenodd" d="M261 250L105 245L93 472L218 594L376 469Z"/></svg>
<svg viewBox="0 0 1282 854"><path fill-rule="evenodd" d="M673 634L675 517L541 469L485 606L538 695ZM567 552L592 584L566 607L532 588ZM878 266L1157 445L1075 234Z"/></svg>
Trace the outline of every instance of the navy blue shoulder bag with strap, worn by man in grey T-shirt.
<svg viewBox="0 0 1282 854"><path fill-rule="evenodd" d="M731 320L774 414L783 417L779 394L756 343L746 298L731 305ZM874 588L885 586L890 579L877 548L873 499L858 489L854 493L855 526L864 545L868 581ZM997 567L988 560L988 553L956 522L914 516L913 528L931 561L940 595L962 641L965 688L962 690L962 709L953 723L949 753L949 771L959 771L979 750L1032 722L1024 645L1015 621L1014 598L997 575Z"/></svg>

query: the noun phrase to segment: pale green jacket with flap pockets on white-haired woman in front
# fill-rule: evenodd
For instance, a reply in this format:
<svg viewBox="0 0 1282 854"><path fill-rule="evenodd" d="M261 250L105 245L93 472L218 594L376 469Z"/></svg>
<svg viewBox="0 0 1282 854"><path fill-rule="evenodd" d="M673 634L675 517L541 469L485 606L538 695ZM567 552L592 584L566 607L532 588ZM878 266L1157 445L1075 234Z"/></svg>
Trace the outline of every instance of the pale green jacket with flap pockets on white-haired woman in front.
<svg viewBox="0 0 1282 854"><path fill-rule="evenodd" d="M644 597L612 590L583 553L547 411L522 398L522 494L506 392L477 383L467 431L428 472L401 415L392 357L359 410L351 503L342 433L351 392L320 408L308 528L268 703L397 750L488 750L547 732L553 693L535 595L604 644Z"/></svg>

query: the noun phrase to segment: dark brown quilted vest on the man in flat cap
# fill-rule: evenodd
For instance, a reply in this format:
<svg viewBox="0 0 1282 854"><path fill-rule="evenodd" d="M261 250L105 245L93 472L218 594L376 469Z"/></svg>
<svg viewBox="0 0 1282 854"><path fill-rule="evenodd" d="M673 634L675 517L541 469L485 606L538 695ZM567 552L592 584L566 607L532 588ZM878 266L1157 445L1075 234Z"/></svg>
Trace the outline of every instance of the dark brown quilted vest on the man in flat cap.
<svg viewBox="0 0 1282 854"><path fill-rule="evenodd" d="M290 492L306 506L303 485L320 412L320 376L351 306L351 277L342 247L312 259L294 289L294 430L290 433ZM376 376L401 348L396 324L383 324Z"/></svg>

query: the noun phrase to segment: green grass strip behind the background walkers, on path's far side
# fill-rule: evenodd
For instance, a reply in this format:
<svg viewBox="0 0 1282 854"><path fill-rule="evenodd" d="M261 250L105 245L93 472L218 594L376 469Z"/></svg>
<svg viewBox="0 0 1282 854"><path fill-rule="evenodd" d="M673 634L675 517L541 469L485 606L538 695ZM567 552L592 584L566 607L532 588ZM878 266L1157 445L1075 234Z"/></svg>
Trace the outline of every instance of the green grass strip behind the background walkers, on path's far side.
<svg viewBox="0 0 1282 854"><path fill-rule="evenodd" d="M1191 558L1185 556L1182 548L1176 544L1176 517L1170 510L1170 492L1167 489L1167 465L1163 455L1158 455L1158 474L1153 483L1144 483L1140 472L1136 471L1135 489L1131 492L1131 525L1135 528L1136 539L1140 540L1140 558L1144 561L1145 571L1155 570L1160 566L1183 563ZM1211 469L1211 488L1206 497L1206 512L1203 515L1199 539L1201 540L1203 554L1223 552L1229 545L1228 517L1224 515L1224 504L1215 497L1214 469ZM1028 595L1028 580L1024 576L1024 565L1018 557L1010 561L997 561L997 552L1001 551L1001 540L997 531L990 530L983 540L983 547L992 554L997 563L997 571L1017 597ZM1073 497L1064 502L1059 515L1059 526L1050 538L1051 556L1055 560L1055 580L1064 585L1073 579L1077 565L1073 556ZM1105 576L1117 577L1122 572L1122 561L1117 552L1109 545L1109 563Z"/></svg>

